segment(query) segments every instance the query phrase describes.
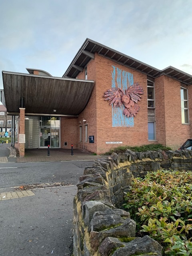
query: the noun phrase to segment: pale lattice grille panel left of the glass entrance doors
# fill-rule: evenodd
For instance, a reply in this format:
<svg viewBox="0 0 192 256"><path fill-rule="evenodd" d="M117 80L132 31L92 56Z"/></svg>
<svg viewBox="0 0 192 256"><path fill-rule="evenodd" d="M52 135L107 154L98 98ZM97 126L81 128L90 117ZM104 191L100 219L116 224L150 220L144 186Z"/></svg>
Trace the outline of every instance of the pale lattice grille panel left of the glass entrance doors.
<svg viewBox="0 0 192 256"><path fill-rule="evenodd" d="M26 116L25 120L25 148L39 147L39 116Z"/></svg>

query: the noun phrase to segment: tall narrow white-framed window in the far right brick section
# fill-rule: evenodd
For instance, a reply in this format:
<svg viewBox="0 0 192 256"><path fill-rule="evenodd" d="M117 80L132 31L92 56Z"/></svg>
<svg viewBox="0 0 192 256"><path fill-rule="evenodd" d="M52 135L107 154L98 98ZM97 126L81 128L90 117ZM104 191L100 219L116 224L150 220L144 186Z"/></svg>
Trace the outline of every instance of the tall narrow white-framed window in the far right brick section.
<svg viewBox="0 0 192 256"><path fill-rule="evenodd" d="M182 124L189 124L188 90L181 87L181 120Z"/></svg>

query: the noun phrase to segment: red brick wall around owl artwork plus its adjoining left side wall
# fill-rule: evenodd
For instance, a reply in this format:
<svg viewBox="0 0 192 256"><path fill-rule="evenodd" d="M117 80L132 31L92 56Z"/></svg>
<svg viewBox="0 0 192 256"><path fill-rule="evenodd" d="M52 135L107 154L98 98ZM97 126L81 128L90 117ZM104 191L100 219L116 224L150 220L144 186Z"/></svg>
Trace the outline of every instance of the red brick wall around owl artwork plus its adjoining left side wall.
<svg viewBox="0 0 192 256"><path fill-rule="evenodd" d="M104 92L112 86L112 65L132 73L134 82L139 82L144 89L142 100L139 102L140 111L134 118L134 127L112 127L112 108L103 98ZM95 143L85 143L86 149L100 154L117 146L148 144L146 75L98 54L95 54L94 60L89 62L87 74L89 80L95 81L94 90L84 112L79 116L79 121L83 118L87 120L85 124L88 123L88 136L94 135ZM84 72L80 73L78 78L84 79ZM105 144L108 141L122 141L123 144ZM78 146L80 147L81 144Z"/></svg>

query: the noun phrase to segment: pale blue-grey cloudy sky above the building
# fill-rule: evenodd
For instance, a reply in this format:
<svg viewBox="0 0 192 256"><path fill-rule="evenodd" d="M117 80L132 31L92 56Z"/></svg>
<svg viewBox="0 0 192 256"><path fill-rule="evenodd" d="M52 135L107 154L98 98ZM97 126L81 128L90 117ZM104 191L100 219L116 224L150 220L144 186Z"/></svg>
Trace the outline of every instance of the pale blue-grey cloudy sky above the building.
<svg viewBox="0 0 192 256"><path fill-rule="evenodd" d="M0 0L0 10L0 71L61 77L90 38L192 74L192 0Z"/></svg>

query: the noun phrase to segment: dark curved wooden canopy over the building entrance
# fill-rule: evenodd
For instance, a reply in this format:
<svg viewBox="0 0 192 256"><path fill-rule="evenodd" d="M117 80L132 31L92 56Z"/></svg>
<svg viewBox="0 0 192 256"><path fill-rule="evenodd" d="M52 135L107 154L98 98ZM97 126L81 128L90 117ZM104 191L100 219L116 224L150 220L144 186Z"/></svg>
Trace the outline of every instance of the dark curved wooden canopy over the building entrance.
<svg viewBox="0 0 192 256"><path fill-rule="evenodd" d="M91 96L94 81L36 76L2 71L1 101L10 114L18 113L24 98L29 114L78 115Z"/></svg>

